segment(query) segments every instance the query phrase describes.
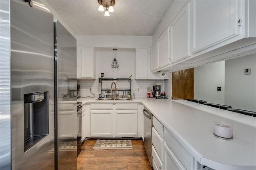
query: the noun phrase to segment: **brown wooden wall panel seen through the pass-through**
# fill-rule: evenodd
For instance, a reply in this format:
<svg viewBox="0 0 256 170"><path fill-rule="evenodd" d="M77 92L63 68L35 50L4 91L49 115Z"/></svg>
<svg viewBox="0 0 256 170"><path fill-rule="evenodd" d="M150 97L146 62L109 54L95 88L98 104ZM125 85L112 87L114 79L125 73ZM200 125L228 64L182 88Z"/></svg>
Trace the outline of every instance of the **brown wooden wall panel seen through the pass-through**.
<svg viewBox="0 0 256 170"><path fill-rule="evenodd" d="M194 99L194 68L172 73L172 98Z"/></svg>

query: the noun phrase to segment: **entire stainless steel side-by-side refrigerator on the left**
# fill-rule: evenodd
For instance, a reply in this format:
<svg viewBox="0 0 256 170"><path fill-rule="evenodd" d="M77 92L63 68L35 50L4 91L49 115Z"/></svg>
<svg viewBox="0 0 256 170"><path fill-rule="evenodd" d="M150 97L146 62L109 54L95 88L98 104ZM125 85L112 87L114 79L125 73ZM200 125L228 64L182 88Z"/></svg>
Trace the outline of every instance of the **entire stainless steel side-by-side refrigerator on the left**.
<svg viewBox="0 0 256 170"><path fill-rule="evenodd" d="M76 169L76 42L29 2L0 0L0 169Z"/></svg>

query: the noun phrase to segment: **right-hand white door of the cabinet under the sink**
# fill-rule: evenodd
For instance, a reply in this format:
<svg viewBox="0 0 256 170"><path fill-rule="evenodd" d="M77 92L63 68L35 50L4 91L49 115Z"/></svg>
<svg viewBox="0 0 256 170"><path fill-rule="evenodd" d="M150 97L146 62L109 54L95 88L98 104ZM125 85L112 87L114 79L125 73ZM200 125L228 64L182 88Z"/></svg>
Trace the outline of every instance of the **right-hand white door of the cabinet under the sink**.
<svg viewBox="0 0 256 170"><path fill-rule="evenodd" d="M116 111L116 136L138 136L138 111Z"/></svg>

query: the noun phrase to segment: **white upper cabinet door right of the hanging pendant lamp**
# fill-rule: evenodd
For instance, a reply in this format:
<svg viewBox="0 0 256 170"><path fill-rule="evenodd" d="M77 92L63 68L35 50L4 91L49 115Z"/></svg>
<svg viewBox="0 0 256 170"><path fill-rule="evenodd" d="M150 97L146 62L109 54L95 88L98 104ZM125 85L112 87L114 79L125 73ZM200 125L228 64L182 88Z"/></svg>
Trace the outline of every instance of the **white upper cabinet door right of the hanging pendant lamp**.
<svg viewBox="0 0 256 170"><path fill-rule="evenodd" d="M148 78L148 49L136 49L136 78Z"/></svg>

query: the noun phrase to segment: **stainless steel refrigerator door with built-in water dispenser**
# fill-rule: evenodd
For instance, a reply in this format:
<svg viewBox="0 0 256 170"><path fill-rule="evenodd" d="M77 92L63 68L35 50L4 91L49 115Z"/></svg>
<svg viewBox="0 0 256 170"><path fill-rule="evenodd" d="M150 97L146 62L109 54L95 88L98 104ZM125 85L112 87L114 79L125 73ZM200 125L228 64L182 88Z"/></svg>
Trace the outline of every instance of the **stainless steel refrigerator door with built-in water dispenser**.
<svg viewBox="0 0 256 170"><path fill-rule="evenodd" d="M55 166L53 15L33 3L10 0L12 170Z"/></svg>

